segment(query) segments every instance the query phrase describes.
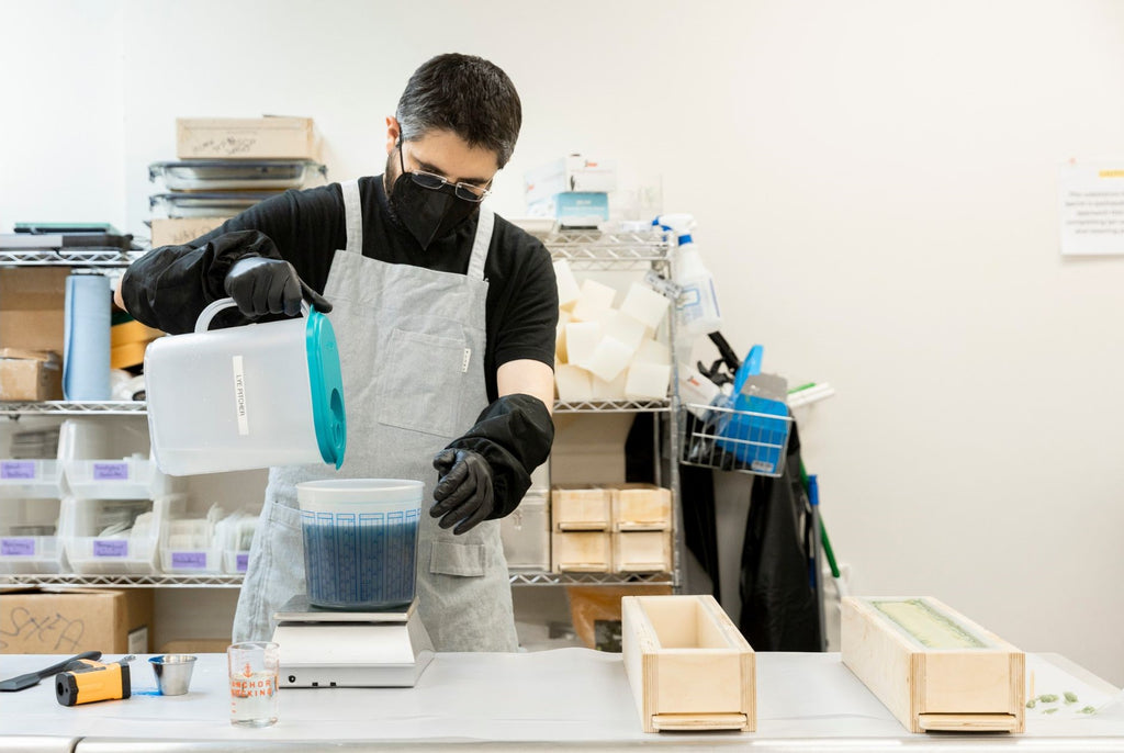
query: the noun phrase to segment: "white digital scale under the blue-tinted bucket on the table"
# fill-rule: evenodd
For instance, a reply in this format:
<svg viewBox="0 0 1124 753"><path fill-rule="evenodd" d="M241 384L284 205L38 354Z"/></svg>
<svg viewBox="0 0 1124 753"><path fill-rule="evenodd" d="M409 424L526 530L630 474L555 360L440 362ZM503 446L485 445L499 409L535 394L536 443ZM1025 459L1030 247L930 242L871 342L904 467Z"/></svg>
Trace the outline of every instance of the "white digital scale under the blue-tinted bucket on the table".
<svg viewBox="0 0 1124 753"><path fill-rule="evenodd" d="M416 599L405 610L338 611L297 596L273 618L279 688L413 688L433 661Z"/></svg>

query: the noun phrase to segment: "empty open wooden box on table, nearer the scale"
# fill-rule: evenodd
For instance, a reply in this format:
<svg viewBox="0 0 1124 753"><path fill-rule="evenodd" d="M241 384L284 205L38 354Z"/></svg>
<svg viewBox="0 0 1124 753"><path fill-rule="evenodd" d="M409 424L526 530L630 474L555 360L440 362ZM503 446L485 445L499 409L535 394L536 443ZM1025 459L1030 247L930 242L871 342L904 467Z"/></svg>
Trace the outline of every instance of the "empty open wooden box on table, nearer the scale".
<svg viewBox="0 0 1124 753"><path fill-rule="evenodd" d="M620 610L644 732L756 728L753 648L714 597L626 596Z"/></svg>

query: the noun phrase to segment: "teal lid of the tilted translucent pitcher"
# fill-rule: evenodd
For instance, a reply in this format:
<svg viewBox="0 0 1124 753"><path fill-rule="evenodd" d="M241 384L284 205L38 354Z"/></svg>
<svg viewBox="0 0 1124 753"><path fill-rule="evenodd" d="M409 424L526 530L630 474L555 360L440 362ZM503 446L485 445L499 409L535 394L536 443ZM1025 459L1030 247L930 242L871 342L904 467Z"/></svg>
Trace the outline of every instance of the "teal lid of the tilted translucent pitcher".
<svg viewBox="0 0 1124 753"><path fill-rule="evenodd" d="M344 464L347 447L344 380L339 371L336 332L328 317L316 309L308 312L305 345L308 348L308 382L312 390L316 442L324 462L338 469Z"/></svg>

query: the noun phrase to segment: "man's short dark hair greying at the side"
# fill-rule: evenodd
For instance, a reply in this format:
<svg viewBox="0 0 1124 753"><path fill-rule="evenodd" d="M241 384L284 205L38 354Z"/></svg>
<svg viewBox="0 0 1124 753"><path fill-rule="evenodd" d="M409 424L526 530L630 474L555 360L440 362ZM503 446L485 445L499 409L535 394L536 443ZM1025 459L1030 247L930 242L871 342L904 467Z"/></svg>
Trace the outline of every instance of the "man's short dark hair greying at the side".
<svg viewBox="0 0 1124 753"><path fill-rule="evenodd" d="M448 53L414 72L395 116L407 142L434 128L452 130L469 146L495 152L502 167L519 137L523 106L499 66L474 55Z"/></svg>

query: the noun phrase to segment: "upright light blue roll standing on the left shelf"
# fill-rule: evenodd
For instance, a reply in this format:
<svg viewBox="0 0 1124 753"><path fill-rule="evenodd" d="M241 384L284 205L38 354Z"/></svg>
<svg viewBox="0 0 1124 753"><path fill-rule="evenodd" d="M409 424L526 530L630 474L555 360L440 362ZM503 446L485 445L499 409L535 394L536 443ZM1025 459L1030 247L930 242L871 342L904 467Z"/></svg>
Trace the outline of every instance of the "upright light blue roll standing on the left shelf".
<svg viewBox="0 0 1124 753"><path fill-rule="evenodd" d="M63 396L67 400L109 400L109 278L66 278L63 339Z"/></svg>

